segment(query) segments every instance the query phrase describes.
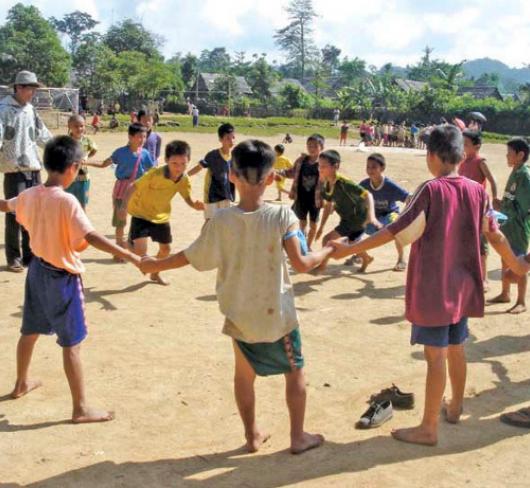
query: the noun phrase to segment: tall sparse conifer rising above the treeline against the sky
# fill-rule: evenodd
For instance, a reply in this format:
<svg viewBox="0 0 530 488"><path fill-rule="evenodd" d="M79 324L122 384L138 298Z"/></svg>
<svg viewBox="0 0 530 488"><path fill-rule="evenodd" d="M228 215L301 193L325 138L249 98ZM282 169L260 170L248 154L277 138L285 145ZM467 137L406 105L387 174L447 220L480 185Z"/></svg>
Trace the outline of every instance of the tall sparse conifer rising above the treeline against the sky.
<svg viewBox="0 0 530 488"><path fill-rule="evenodd" d="M311 34L317 14L313 9L312 0L291 0L286 11L290 23L277 30L274 39L292 60L298 70L299 80L303 83L308 61L316 51Z"/></svg>

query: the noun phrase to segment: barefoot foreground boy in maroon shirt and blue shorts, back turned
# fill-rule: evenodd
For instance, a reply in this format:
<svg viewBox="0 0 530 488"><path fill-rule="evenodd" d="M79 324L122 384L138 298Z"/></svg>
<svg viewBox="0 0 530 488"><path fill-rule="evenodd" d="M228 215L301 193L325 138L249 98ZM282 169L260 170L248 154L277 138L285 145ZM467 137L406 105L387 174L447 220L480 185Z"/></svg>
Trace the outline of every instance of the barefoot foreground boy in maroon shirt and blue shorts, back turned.
<svg viewBox="0 0 530 488"><path fill-rule="evenodd" d="M411 344L423 344L427 360L425 409L418 427L392 432L395 439L435 445L446 384L446 362L452 399L444 416L458 423L466 383L464 341L467 318L484 315L480 234L517 273L528 270L517 260L499 231L484 188L458 175L464 155L462 133L452 125L436 127L427 143L427 166L434 179L423 183L400 218L352 245L340 242L334 258L368 251L392 239L412 243L406 286L406 316L412 322Z"/></svg>

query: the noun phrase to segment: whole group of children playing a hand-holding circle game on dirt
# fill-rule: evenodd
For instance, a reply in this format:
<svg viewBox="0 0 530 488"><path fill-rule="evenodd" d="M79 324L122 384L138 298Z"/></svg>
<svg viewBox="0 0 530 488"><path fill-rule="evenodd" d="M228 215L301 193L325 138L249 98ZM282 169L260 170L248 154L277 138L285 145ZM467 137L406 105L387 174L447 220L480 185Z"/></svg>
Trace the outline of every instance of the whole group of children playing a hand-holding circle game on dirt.
<svg viewBox="0 0 530 488"><path fill-rule="evenodd" d="M198 271L216 269L217 299L225 317L223 333L233 342L234 390L247 449L257 451L269 437L255 418L256 375L275 374L285 376L291 452L299 454L318 447L324 440L322 435L304 430L304 357L286 256L296 272L323 269L330 258L351 255L358 256L361 269L366 269L372 259L367 252L394 241L398 250L396 270L405 269L403 247L412 244L406 316L413 324L411 343L424 345L428 372L421 424L395 430L392 435L405 442L434 445L440 408L447 421L458 422L466 381L463 344L468 335L467 320L484 314L481 239L489 241L503 260L503 294L498 301L509 300L511 282L519 284L520 292L524 291L523 281L526 287L530 173L525 164L529 148L524 141L508 143L508 163L514 170L502 201L493 195L493 205L508 217L503 233L484 186L458 174L464 144L467 148L471 136L462 136L452 126L433 130L426 160L434 178L411 196L384 176L386 163L381 154L369 156L369 178L358 185L338 172L339 153L324 150L324 138L315 134L307 140L307 154L292 167L282 163L281 169L274 170L283 148L273 150L258 140L233 147L235 130L230 124L219 128L221 148L208 153L190 171L186 171L190 147L183 141L169 143L166 165L156 167L156 159L143 149L148 128L140 118L139 124L129 127L127 146L101 164L91 163L97 167L115 165L116 243L112 243L94 230L84 212L87 201L80 197L86 197L88 185L78 185L83 188L79 192L71 188L73 182L88 181L87 160L95 151L77 128L80 123L73 117L71 137L56 137L46 146L48 179L44 185L17 198L0 200L0 210L16 212L17 220L28 230L35 255L26 279L13 398L40 386L28 375L33 347L40 334L55 333L63 348L72 393L72 421L112 418L109 412L88 406L79 356L87 333L80 280L84 267L79 253L90 244L133 263L159 283L165 283L161 272L188 264ZM471 142L480 146L477 139ZM484 178L494 181L477 154L466 151L467 158L460 167L477 177L482 172ZM86 179L79 180L82 168ZM202 169L207 170L204 203L194 201L190 191L190 177ZM275 180L282 183L282 178L293 179L292 209L264 199L267 187ZM63 191L67 188L75 196ZM237 205L233 204L236 191ZM206 222L189 247L170 254L170 202L176 193L190 207L204 210ZM399 217L396 202L407 203ZM317 227L322 207L324 215ZM311 248L323 235L332 210L340 217L339 225L324 235L320 250L303 252L299 228L307 233ZM132 216L129 245L124 239L127 212ZM371 235L362 240L365 232ZM156 258L146 255L148 238L160 245ZM50 246L50 242L55 245ZM520 305L524 307L524 292L517 311L522 311ZM447 362L452 398L442 405Z"/></svg>

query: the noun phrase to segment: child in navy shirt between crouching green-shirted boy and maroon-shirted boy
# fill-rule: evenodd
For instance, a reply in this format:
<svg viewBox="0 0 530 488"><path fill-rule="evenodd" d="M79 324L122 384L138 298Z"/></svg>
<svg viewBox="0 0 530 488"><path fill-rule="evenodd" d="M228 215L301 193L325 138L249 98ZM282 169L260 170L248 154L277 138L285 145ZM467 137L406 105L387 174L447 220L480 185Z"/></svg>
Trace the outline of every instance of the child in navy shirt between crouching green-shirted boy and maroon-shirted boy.
<svg viewBox="0 0 530 488"><path fill-rule="evenodd" d="M368 156L366 160L366 174L369 178L361 181L360 185L372 194L374 198L375 216L379 224L381 224L379 226L368 224L365 230L368 235L375 234L381 227L394 222L399 213L397 202L408 203L410 199L407 190L384 176L385 168L386 161L382 154L373 153ZM404 271L407 269L407 263L403 258L403 246L398 241L395 241L395 244L398 259L394 266L394 271Z"/></svg>

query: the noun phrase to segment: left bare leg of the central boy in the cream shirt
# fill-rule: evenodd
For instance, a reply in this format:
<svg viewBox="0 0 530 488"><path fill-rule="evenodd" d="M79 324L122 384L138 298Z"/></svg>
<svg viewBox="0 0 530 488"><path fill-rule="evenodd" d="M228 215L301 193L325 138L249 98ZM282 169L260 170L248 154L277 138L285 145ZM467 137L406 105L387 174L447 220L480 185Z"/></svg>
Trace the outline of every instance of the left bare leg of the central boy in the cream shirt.
<svg viewBox="0 0 530 488"><path fill-rule="evenodd" d="M233 346L236 362L234 394L237 408L245 428L247 450L249 452L256 452L262 444L269 440L270 435L262 433L256 424L256 396L254 394L256 373L235 341L233 341Z"/></svg>

